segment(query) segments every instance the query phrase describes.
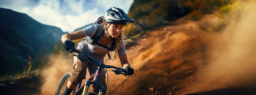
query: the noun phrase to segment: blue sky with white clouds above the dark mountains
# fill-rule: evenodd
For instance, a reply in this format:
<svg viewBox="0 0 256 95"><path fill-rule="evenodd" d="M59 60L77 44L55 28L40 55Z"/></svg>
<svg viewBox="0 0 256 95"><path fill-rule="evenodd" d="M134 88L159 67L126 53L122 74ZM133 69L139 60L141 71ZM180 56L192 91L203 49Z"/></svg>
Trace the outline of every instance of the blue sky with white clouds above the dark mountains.
<svg viewBox="0 0 256 95"><path fill-rule="evenodd" d="M133 0L0 0L0 8L26 13L40 23L73 32L94 23L110 7L128 13L132 3Z"/></svg>

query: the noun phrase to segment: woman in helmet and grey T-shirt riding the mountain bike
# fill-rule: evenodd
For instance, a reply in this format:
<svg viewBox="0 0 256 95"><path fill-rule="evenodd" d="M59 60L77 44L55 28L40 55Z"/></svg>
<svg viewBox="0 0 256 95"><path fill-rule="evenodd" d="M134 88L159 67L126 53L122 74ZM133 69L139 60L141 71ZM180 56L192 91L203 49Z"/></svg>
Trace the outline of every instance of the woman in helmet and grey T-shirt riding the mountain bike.
<svg viewBox="0 0 256 95"><path fill-rule="evenodd" d="M114 51L114 53L112 54L112 58L114 59L115 55L118 53L122 68L126 70L125 74L132 75L134 73L134 69L130 67L130 63L128 62L126 56L124 40L122 39L122 27L124 27L127 22L134 22L128 17L128 15L126 15L126 13L122 9L116 7L109 8L105 12L103 16L103 21L104 22L102 24L104 24L104 33L98 40L97 44L89 44L88 39L92 38L95 35L97 28L102 24L93 24L82 30L78 30L69 34L64 34L61 37L61 41L64 43L63 47L67 51L69 51L70 49L75 48L75 43L71 40L85 37L83 41L79 42L77 49L95 58L97 61L103 62L104 56L111 51L106 47L111 48L112 43L115 43L115 47L114 49L112 49L112 51ZM74 54L77 55L77 53ZM81 62L76 56L73 56L73 60L74 74L73 76L71 76L70 80L67 83L64 95L69 95L73 91L73 89L75 89L75 87L79 84L79 82L85 79L87 68L90 75L92 75L92 73L97 70L96 65L88 64L87 62ZM105 78L105 74L103 74L100 78L100 84L104 87L106 87ZM99 88L94 85L93 88L93 91L98 93ZM103 94L106 94L106 88Z"/></svg>

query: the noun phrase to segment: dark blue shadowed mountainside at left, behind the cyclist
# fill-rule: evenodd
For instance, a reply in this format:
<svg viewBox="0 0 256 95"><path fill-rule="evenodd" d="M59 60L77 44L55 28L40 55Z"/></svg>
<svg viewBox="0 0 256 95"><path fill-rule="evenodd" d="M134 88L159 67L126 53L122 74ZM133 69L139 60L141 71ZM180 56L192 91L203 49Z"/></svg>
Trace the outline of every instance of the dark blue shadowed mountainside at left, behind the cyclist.
<svg viewBox="0 0 256 95"><path fill-rule="evenodd" d="M33 67L51 53L64 34L60 28L44 25L24 13L0 8L0 75L17 72L31 55Z"/></svg>

